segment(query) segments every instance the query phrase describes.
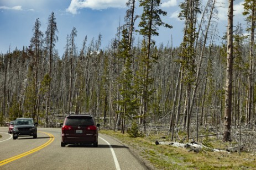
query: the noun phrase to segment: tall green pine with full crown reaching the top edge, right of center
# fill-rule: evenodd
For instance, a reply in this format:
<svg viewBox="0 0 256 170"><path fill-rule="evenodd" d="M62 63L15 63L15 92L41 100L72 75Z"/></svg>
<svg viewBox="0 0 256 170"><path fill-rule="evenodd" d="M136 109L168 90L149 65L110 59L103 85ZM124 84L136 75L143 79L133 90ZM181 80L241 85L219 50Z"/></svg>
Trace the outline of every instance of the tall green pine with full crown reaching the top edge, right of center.
<svg viewBox="0 0 256 170"><path fill-rule="evenodd" d="M144 125L144 132L146 131L146 116L148 114L148 101L151 95L150 90L150 84L152 82L152 78L150 78L150 68L151 68L151 62L150 62L150 52L151 52L151 46L154 46L154 41L152 40L153 36L158 36L158 26L165 26L166 28L172 28L171 25L164 23L160 15L166 15L167 13L163 10L159 9L160 6L160 0L139 0L139 6L143 7L143 13L140 17L139 27L140 30L138 31L140 35L144 36L144 39L147 41L144 41L143 48L144 51L144 59L142 62L144 62L143 67L144 70L141 74L143 74L144 80L142 81L143 88L141 91L142 98L143 98L143 125Z"/></svg>

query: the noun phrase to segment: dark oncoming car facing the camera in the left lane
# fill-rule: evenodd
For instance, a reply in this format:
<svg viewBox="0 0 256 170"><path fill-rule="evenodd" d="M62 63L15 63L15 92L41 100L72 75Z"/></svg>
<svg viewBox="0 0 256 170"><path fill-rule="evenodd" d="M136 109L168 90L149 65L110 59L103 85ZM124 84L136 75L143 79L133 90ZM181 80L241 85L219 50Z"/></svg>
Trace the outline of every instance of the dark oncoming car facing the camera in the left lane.
<svg viewBox="0 0 256 170"><path fill-rule="evenodd" d="M33 118L17 118L13 127L13 139L17 139L18 136L37 138L37 125L38 123L34 123Z"/></svg>

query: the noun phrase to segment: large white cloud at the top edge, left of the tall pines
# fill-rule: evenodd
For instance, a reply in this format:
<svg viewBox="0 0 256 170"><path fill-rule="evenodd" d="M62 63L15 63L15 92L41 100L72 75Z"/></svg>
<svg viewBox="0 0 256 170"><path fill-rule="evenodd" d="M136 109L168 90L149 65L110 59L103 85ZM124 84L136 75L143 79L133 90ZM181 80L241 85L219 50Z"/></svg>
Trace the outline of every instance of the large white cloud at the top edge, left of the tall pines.
<svg viewBox="0 0 256 170"><path fill-rule="evenodd" d="M91 9L107 9L107 8L124 8L126 7L127 0L71 0L67 12L76 14L78 9L91 8Z"/></svg>

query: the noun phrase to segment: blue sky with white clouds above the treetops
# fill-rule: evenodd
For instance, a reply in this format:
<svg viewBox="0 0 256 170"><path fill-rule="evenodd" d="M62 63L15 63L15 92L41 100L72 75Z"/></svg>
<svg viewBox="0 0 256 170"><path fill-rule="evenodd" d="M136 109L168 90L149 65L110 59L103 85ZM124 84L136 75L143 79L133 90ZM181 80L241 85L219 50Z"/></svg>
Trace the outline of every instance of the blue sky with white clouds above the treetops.
<svg viewBox="0 0 256 170"><path fill-rule="evenodd" d="M202 0L206 2L206 0ZM0 54L11 52L17 48L30 45L33 36L33 26L36 19L41 23L40 30L45 34L48 18L54 12L59 40L55 43L55 50L59 56L65 51L66 37L72 28L76 28L75 43L77 50L82 47L82 42L87 36L87 45L92 40L96 41L102 35L101 49L109 47L116 37L117 28L124 23L127 0L0 0ZM154 36L156 45L179 46L182 41L184 21L179 20L181 0L161 0L160 9L167 12L161 19L173 26L173 29L159 28L159 36ZM218 37L226 31L227 1L217 0ZM244 0L234 1L234 25L244 23L242 15ZM142 9L138 7L135 13L140 15ZM139 20L137 20L138 24ZM244 25L244 24L243 24ZM246 26L246 25L245 25ZM139 29L139 28L135 28ZM137 37L137 35L135 35ZM218 40L216 40L218 41Z"/></svg>

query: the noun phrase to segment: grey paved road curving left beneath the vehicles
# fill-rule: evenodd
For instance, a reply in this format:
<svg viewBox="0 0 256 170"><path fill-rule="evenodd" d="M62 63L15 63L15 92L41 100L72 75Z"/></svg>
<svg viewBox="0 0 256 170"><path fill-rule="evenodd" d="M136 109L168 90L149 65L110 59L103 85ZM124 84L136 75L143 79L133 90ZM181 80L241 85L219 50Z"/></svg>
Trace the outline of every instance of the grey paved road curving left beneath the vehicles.
<svg viewBox="0 0 256 170"><path fill-rule="evenodd" d="M0 127L0 169L147 169L129 148L100 134L98 147L60 146L60 129L38 128L38 138L12 139Z"/></svg>

